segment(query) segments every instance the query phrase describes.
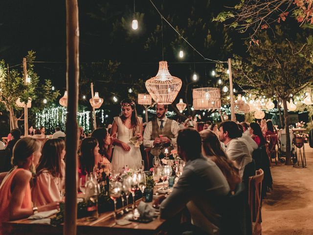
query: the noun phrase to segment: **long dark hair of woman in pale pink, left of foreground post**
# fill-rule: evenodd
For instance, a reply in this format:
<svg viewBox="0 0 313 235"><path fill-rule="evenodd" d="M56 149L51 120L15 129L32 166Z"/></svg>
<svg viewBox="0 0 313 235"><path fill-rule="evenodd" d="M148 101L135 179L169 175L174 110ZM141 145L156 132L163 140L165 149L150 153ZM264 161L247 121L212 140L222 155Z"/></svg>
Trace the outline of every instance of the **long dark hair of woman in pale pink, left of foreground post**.
<svg viewBox="0 0 313 235"><path fill-rule="evenodd" d="M61 154L65 149L65 142L61 139L47 140L42 149L42 155L36 168L36 174L41 174L44 170L58 178L63 178L61 166Z"/></svg>

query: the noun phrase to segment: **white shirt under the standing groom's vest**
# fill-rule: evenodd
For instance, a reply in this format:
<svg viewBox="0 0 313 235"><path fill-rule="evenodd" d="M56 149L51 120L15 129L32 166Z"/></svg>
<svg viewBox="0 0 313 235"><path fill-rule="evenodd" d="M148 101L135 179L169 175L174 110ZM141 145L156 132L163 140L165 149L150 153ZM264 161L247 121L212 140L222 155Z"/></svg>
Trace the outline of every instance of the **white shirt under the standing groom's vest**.
<svg viewBox="0 0 313 235"><path fill-rule="evenodd" d="M160 118L156 118L157 120L157 125L160 127L161 125L161 120L163 120L163 126L165 126L165 123L167 121L166 116L163 119ZM176 144L176 139L178 136L178 131L180 130L179 125L177 123L177 121L173 120L172 121L172 126L171 126L171 132L174 135L174 138L172 138L172 144L175 145ZM151 134L152 134L152 121L149 121L147 123L147 126L145 128L145 132L143 133L143 145L145 147L154 147L153 142L151 140Z"/></svg>

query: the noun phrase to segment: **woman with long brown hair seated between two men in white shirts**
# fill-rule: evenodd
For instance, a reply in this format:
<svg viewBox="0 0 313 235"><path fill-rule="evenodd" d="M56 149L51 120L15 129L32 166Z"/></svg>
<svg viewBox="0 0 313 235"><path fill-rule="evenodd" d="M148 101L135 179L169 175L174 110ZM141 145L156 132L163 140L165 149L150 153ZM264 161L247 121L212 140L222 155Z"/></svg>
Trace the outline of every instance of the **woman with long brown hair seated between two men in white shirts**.
<svg viewBox="0 0 313 235"><path fill-rule="evenodd" d="M203 130L200 132L202 140L202 154L211 159L224 174L229 188L234 191L236 186L241 182L239 170L230 161L219 141L218 136L211 130Z"/></svg>

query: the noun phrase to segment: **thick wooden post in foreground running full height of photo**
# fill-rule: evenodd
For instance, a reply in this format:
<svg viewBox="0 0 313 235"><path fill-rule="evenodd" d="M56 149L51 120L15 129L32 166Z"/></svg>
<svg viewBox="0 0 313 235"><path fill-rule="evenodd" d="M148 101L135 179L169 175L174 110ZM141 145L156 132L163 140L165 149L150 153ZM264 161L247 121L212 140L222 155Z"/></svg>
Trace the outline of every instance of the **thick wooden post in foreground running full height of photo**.
<svg viewBox="0 0 313 235"><path fill-rule="evenodd" d="M77 150L78 126L76 120L79 82L79 24L77 0L66 0L67 12L67 137L65 177L64 235L76 235L77 219Z"/></svg>

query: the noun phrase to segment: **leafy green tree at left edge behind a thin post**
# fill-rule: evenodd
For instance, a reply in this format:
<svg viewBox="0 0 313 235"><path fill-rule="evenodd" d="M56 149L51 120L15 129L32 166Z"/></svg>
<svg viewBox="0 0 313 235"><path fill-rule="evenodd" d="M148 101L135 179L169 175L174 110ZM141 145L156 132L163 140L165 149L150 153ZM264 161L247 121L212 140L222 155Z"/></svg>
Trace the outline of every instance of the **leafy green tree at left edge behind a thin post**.
<svg viewBox="0 0 313 235"><path fill-rule="evenodd" d="M43 84L39 82L39 76L34 71L35 52L28 51L26 56L27 75L30 82L24 84L23 74L17 69L10 70L4 60L0 61L0 103L9 112L10 128L18 128L18 121L22 121L24 115L23 108L18 107L16 101L27 103L32 100L33 113L38 111L43 105L43 98L47 104L52 103L59 95L58 91L52 91L51 81L45 80Z"/></svg>

